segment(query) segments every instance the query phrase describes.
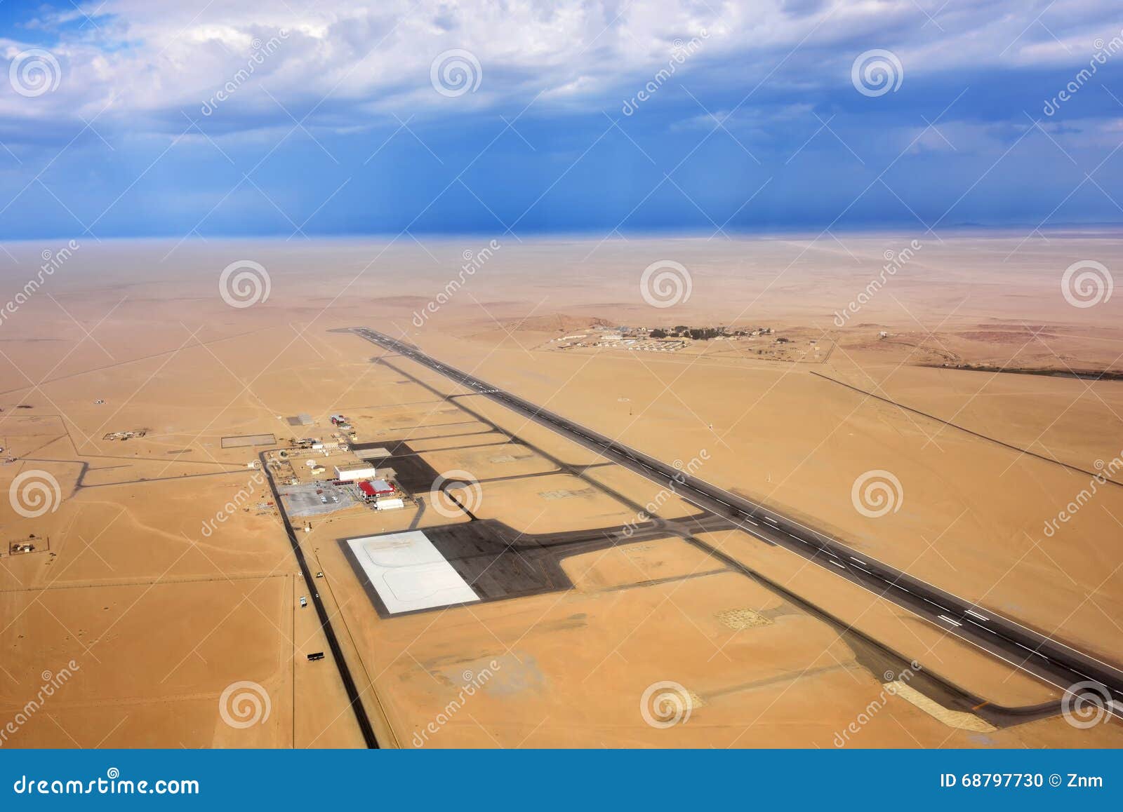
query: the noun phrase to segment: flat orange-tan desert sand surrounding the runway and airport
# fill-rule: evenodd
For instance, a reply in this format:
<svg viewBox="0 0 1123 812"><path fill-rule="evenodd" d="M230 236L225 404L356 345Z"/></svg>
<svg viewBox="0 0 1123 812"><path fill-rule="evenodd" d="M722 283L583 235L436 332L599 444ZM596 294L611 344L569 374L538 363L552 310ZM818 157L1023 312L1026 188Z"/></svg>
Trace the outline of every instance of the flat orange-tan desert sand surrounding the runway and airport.
<svg viewBox="0 0 1123 812"><path fill-rule="evenodd" d="M1110 471L1119 458L1123 381L943 365L1123 369L1120 299L1072 307L1060 290L1078 259L1123 267L1123 242L925 242L840 329L836 313L910 239L504 244L424 319L414 314L438 301L472 238L426 251L376 240L82 246L0 323L0 458L12 460L0 487L31 472L58 486L40 516L0 504L0 723L28 716L45 672L76 665L3 746L362 745L330 653L307 661L327 646L299 606L307 590L272 496L247 468L258 450L223 449L222 437L327 436L328 415L343 412L360 442L404 440L437 471L469 471L483 483L476 515L526 533L623 524L655 497L614 467L556 472L547 454L604 461L482 398L444 400L451 389L431 372L371 363L374 345L330 332L353 325L404 335L661 459L705 451L697 476L1120 662L1123 488L1099 486L1070 520L1044 528L1088 489L1097 460ZM18 262L3 258L0 279L15 296L40 251L56 248L9 248ZM230 307L217 277L243 257L268 268L272 290ZM654 308L638 277L663 258L690 269L693 289ZM831 350L786 362L755 358L747 342L672 354L550 349L595 319L769 325ZM300 413L316 424L290 425ZM125 431L146 434L103 439ZM880 518L851 501L855 479L875 469L902 486L900 509ZM658 515L691 513L669 500ZM984 732L900 695L879 701L889 666L864 638L902 655L897 674L915 658L925 677L995 704L1056 692L737 532L700 537L757 579L667 536L566 560L572 590L382 619L338 539L414 522L450 519L351 509L300 534L387 744L832 747L864 711L846 745L1123 744L1117 723L1077 730L1052 717ZM35 552L8 554L33 534ZM857 636L840 631L848 626ZM652 726L641 698L668 681L687 692L691 717ZM249 725L231 725L223 692L245 683L268 714L254 719L250 707ZM924 679L913 684L947 700ZM464 699L465 685L478 688Z"/></svg>

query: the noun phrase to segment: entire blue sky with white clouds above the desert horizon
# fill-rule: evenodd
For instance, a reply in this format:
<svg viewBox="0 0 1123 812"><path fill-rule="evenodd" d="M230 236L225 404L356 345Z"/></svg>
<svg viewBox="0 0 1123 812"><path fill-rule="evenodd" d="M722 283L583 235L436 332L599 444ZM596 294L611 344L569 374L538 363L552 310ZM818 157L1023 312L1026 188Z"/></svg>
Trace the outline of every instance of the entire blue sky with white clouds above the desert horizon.
<svg viewBox="0 0 1123 812"><path fill-rule="evenodd" d="M1123 222L1111 0L7 0L0 56L0 240Z"/></svg>

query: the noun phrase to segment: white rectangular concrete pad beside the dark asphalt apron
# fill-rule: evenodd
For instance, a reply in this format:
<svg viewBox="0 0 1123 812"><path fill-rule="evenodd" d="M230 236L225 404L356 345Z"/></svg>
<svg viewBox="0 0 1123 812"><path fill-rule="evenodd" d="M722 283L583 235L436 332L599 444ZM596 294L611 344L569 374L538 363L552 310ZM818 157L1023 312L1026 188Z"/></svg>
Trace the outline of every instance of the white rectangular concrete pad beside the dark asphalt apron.
<svg viewBox="0 0 1123 812"><path fill-rule="evenodd" d="M480 600L421 530L349 538L347 544L391 615Z"/></svg>

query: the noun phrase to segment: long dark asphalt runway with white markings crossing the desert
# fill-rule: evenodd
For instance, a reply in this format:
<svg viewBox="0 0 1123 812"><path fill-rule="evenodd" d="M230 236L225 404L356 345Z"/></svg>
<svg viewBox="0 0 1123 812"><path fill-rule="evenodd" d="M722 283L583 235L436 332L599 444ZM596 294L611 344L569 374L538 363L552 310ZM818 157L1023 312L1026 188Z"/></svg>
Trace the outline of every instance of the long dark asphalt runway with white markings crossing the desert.
<svg viewBox="0 0 1123 812"><path fill-rule="evenodd" d="M368 327L351 332L439 372L472 393L491 398L556 433L596 451L679 497L731 520L746 533L785 547L864 589L904 607L948 634L989 652L1012 666L1065 691L1098 693L1116 716L1123 713L1123 671L989 609L958 598L888 564L859 554L837 538L807 527L764 505L623 445L611 437L536 406L517 395L441 363L416 347Z"/></svg>

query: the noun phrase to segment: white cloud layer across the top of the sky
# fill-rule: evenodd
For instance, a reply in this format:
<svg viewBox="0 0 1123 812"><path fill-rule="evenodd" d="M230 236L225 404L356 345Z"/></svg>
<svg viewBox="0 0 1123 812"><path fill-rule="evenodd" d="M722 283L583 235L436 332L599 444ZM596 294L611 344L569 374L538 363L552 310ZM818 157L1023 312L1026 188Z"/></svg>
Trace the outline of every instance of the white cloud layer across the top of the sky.
<svg viewBox="0 0 1123 812"><path fill-rule="evenodd" d="M48 121L102 113L139 126L168 129L197 114L244 71L255 41L283 30L287 38L223 107L229 129L265 126L276 103L298 118L319 105L327 113L351 108L366 117L384 112L453 109L429 86L433 56L449 48L473 53L484 71L476 93L455 100L458 111L486 105L541 103L615 104L665 65L676 39L706 29L704 53L684 75L714 71L746 89L766 81L813 86L847 81L858 50L893 49L910 77L986 65L1020 66L1086 59L1097 36L1117 33L1112 3L1058 0L1030 24L1024 3L951 0L931 13L913 0L815 2L768 0L386 0L377 7L353 0L258 2L216 0L201 11L180 0L106 0L33 20L25 39L9 36L0 48L11 58L37 45L31 33L54 33L47 47L63 77L57 91L35 99L0 95L0 116ZM63 25L70 21L70 25ZM10 33L11 34L11 33ZM1063 44L1058 43L1060 37ZM1083 50L1080 50L1081 45ZM264 90L263 90L264 89ZM319 121L313 117L313 122ZM162 123L163 122L163 123ZM354 122L348 122L353 124Z"/></svg>

